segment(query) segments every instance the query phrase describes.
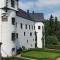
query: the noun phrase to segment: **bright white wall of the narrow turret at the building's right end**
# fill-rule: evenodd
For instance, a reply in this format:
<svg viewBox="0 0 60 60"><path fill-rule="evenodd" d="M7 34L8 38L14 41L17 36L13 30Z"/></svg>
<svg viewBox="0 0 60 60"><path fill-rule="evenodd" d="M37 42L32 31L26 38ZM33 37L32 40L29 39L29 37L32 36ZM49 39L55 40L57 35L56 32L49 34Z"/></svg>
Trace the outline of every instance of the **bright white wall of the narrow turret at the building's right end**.
<svg viewBox="0 0 60 60"><path fill-rule="evenodd" d="M38 29L38 26L40 26L40 29ZM43 28L44 28L44 24L42 22L36 22L35 23L35 30L36 30L36 33L37 33L37 47L38 48L43 47L43 43L42 43Z"/></svg>

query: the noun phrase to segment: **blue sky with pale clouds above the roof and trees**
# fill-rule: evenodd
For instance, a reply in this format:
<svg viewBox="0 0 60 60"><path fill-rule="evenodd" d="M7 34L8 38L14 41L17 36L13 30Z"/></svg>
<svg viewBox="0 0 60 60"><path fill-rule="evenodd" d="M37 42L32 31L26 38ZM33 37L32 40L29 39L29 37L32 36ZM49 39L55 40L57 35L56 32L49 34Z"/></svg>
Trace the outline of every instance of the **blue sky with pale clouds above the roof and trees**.
<svg viewBox="0 0 60 60"><path fill-rule="evenodd" d="M44 13L45 19L51 14L60 19L60 0L20 0L19 7L24 11Z"/></svg>

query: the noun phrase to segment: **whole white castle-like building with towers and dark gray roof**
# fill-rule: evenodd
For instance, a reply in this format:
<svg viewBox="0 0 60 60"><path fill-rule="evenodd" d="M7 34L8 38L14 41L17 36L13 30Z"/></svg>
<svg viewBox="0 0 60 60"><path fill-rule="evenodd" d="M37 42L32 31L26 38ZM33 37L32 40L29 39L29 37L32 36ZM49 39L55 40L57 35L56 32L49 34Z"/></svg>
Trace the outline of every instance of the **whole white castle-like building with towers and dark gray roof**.
<svg viewBox="0 0 60 60"><path fill-rule="evenodd" d="M18 9L18 0L0 0L0 42L3 57L16 55L19 48L42 48L43 13Z"/></svg>

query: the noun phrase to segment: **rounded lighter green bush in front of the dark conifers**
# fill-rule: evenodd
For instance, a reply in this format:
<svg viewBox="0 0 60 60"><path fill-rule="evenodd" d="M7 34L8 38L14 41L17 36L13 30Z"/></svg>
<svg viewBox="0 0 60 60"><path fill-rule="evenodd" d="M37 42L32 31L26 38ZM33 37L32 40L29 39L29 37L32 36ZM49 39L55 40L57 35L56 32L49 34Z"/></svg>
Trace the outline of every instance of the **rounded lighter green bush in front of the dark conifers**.
<svg viewBox="0 0 60 60"><path fill-rule="evenodd" d="M47 36L46 38L46 47L49 47L51 45L58 45L59 41L56 36Z"/></svg>

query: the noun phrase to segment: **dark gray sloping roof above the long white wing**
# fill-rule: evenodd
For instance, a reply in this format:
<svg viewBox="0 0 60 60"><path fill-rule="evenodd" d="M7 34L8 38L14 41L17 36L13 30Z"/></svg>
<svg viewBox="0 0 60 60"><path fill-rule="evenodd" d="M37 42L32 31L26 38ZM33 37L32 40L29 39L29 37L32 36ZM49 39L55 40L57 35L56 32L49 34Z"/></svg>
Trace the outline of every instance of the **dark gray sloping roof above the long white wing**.
<svg viewBox="0 0 60 60"><path fill-rule="evenodd" d="M43 13L26 13L25 11L23 11L22 9L19 9L19 11L16 11L16 15L31 21L35 21L35 22L42 22L44 21L44 15Z"/></svg>

